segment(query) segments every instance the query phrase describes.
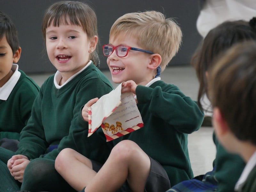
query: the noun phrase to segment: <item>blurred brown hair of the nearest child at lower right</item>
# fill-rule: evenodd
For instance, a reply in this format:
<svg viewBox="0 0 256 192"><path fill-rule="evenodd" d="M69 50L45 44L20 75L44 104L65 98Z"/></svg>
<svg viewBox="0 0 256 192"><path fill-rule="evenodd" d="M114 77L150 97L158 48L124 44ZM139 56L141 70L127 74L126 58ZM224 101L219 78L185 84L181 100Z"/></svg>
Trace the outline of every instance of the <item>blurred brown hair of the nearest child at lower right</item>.
<svg viewBox="0 0 256 192"><path fill-rule="evenodd" d="M209 73L209 96L241 141L256 145L256 42L236 44Z"/></svg>

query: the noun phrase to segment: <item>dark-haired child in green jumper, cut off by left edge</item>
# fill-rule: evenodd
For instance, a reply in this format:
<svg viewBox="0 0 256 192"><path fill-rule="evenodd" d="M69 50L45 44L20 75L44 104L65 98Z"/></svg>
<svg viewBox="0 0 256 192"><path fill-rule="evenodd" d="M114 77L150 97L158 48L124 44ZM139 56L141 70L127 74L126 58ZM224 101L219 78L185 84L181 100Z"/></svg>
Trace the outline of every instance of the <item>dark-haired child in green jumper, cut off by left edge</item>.
<svg viewBox="0 0 256 192"><path fill-rule="evenodd" d="M16 151L39 87L16 64L21 48L12 20L0 12L0 147ZM15 64L14 64L15 63Z"/></svg>

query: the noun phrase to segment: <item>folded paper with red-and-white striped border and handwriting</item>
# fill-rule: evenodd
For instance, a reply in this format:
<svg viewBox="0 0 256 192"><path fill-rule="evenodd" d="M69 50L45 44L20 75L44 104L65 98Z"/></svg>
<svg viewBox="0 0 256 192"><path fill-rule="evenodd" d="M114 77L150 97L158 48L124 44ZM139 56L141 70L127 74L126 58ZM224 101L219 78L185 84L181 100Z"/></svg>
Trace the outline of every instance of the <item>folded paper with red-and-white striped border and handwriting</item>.
<svg viewBox="0 0 256 192"><path fill-rule="evenodd" d="M143 127L132 92L121 94L121 88L122 84L89 107L88 136L101 126L107 141L111 141Z"/></svg>

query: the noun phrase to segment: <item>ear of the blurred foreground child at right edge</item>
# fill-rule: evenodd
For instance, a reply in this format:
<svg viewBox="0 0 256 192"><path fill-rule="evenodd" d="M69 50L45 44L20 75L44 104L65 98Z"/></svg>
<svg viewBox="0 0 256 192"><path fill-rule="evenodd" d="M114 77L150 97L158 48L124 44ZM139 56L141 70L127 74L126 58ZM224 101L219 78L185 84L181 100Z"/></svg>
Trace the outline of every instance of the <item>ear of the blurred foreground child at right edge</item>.
<svg viewBox="0 0 256 192"><path fill-rule="evenodd" d="M215 132L218 136L223 136L230 132L230 128L228 127L227 121L223 118L218 107L214 107L213 109L212 120Z"/></svg>

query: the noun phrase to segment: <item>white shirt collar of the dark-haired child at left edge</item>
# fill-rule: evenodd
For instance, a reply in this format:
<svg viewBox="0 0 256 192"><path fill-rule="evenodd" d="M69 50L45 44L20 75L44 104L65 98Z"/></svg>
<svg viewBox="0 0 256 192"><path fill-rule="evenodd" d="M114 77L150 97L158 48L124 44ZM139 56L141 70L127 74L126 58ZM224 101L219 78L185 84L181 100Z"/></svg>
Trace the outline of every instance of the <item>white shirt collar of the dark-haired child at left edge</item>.
<svg viewBox="0 0 256 192"><path fill-rule="evenodd" d="M18 71L19 65L12 64L12 71L14 72L11 78L0 88L0 100L6 101L10 96L12 89L20 79L20 72Z"/></svg>

